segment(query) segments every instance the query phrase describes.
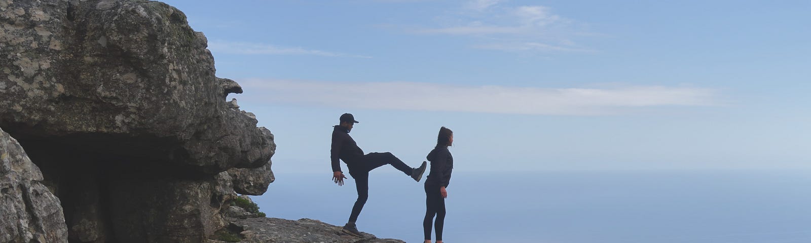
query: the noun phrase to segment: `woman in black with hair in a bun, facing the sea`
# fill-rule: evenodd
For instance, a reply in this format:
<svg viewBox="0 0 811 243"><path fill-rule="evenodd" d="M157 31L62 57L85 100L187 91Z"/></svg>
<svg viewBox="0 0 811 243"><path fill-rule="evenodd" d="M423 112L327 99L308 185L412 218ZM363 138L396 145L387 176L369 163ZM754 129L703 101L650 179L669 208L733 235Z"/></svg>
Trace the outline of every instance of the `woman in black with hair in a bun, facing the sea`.
<svg viewBox="0 0 811 243"><path fill-rule="evenodd" d="M431 173L425 180L425 219L423 220L423 231L425 232L425 243L431 243L431 221L434 220L436 228L436 243L442 243L442 228L445 223L445 198L448 198L448 183L451 181L453 171L453 156L448 151L448 146L453 145L453 131L440 128L440 134L436 137L436 147L428 153L427 159L431 161Z"/></svg>

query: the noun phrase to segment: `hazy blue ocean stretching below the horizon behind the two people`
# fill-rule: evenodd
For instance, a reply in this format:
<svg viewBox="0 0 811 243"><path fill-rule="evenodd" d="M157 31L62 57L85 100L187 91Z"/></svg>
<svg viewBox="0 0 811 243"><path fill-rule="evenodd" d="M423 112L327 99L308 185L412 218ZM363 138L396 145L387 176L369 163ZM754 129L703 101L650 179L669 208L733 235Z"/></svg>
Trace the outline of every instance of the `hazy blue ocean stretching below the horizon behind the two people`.
<svg viewBox="0 0 811 243"><path fill-rule="evenodd" d="M351 178L275 174L260 211L345 224ZM370 184L358 229L422 242L422 182L384 167ZM445 202L448 243L811 242L811 171L455 172Z"/></svg>

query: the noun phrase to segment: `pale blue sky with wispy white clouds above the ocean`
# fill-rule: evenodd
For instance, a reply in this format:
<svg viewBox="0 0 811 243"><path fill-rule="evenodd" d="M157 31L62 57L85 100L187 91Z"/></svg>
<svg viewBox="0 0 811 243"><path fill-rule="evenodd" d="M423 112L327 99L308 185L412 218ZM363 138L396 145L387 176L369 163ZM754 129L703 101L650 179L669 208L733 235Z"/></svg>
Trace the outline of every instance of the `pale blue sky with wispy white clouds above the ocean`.
<svg viewBox="0 0 811 243"><path fill-rule="evenodd" d="M808 1L165 2L276 173L329 173L345 112L412 165L447 126L457 171L811 168Z"/></svg>

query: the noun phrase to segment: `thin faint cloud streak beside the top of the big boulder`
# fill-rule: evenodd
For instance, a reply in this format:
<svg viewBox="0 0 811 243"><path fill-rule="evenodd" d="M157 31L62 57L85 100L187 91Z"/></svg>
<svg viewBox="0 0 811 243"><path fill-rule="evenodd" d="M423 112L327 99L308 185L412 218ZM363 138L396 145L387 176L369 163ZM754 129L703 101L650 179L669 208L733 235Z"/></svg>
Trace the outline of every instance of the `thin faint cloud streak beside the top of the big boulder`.
<svg viewBox="0 0 811 243"><path fill-rule="evenodd" d="M249 42L235 42L212 40L208 41L208 49L214 53L230 53L244 55L315 55L325 57L346 57L346 58L371 58L367 56L333 53L316 49L304 49L301 47L283 47Z"/></svg>

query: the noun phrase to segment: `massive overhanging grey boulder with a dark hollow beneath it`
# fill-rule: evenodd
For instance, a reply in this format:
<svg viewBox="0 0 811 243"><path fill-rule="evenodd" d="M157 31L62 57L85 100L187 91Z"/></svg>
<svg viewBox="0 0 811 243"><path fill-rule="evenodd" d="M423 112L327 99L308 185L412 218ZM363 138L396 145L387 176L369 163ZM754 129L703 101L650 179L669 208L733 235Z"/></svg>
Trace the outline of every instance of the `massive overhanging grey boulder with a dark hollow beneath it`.
<svg viewBox="0 0 811 243"><path fill-rule="evenodd" d="M215 76L206 46L162 2L0 0L0 127L59 199L25 182L42 180L36 167L8 190L62 206L15 215L33 229L2 232L53 242L65 228L36 219L63 211L71 242L200 242L225 226L234 185L264 193L272 134L226 104L242 87Z"/></svg>

